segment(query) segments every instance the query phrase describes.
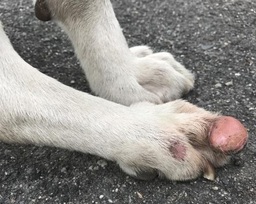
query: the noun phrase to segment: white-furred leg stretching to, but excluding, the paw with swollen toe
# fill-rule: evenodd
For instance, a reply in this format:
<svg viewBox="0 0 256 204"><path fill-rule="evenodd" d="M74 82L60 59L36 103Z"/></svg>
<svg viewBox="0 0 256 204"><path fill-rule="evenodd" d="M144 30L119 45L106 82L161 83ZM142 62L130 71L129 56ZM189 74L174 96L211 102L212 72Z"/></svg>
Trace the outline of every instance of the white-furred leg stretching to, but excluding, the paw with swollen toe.
<svg viewBox="0 0 256 204"><path fill-rule="evenodd" d="M0 140L8 143L56 146L117 160L135 141L133 134L127 136L135 131L130 108L42 74L19 57L1 24L0 112Z"/></svg>

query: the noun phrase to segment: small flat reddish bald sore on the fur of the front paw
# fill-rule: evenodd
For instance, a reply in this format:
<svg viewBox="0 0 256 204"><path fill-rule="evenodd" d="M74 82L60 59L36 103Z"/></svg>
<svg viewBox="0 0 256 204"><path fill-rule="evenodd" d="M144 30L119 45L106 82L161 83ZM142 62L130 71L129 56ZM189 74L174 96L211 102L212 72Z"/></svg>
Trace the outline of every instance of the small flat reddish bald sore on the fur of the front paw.
<svg viewBox="0 0 256 204"><path fill-rule="evenodd" d="M169 152L172 154L173 158L177 160L185 160L186 157L186 147L180 141L172 141L169 148Z"/></svg>

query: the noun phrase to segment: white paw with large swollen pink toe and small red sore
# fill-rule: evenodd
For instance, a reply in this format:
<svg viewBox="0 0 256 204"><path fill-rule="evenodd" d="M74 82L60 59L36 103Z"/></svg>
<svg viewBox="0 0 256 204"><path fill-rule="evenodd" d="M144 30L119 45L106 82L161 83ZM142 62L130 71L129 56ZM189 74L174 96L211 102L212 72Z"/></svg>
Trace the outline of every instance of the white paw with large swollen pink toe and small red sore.
<svg viewBox="0 0 256 204"><path fill-rule="evenodd" d="M203 175L214 180L215 168L226 164L248 141L247 131L237 119L182 100L158 106L140 103L132 108L152 122L146 134L141 134L143 142L137 139L131 160L118 162L137 179L159 176L186 181Z"/></svg>

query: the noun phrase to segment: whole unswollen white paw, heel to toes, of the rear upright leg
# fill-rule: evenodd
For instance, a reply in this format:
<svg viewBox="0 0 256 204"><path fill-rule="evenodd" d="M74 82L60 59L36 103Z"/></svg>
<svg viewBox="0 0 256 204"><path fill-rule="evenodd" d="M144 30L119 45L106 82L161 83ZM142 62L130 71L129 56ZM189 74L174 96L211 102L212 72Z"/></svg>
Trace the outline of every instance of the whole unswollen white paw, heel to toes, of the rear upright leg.
<svg viewBox="0 0 256 204"><path fill-rule="evenodd" d="M148 46L132 47L130 51L132 57L120 65L124 68L116 77L111 72L102 75L102 82L95 80L98 73L90 77L96 95L125 106L142 101L162 104L179 99L194 87L194 75L171 54L153 54Z"/></svg>

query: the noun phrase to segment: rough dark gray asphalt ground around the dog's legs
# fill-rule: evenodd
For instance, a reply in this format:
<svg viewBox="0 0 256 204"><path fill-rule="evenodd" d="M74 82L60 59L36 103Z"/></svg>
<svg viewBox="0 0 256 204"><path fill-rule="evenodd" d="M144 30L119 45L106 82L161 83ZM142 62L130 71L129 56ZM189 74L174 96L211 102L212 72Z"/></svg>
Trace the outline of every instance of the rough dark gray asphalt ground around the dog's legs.
<svg viewBox="0 0 256 204"><path fill-rule="evenodd" d="M248 147L217 180L143 182L112 162L67 150L0 143L0 203L256 203L254 0L113 1L131 46L168 51L196 73L186 99L239 118ZM41 72L90 92L65 33L39 22L29 0L1 0L0 19L17 52Z"/></svg>

